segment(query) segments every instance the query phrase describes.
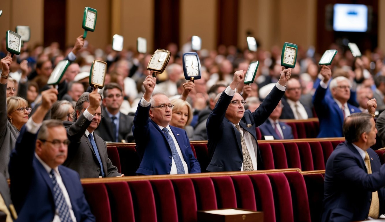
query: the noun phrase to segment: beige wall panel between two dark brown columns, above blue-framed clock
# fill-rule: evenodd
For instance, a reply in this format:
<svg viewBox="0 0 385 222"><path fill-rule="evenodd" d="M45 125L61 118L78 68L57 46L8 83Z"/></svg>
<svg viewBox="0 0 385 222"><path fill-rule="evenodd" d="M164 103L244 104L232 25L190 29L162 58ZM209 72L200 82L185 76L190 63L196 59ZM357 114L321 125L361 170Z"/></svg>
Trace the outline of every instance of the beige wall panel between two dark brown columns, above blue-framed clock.
<svg viewBox="0 0 385 222"><path fill-rule="evenodd" d="M180 45L192 35L202 38L202 49L216 49L216 0L181 0Z"/></svg>

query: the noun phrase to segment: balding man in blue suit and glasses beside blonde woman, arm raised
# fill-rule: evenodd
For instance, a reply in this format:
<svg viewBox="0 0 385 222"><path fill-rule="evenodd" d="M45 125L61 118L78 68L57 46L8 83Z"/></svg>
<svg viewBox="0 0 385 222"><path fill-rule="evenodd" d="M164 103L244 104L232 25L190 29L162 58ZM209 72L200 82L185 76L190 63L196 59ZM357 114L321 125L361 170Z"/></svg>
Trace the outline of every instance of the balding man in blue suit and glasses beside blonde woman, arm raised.
<svg viewBox="0 0 385 222"><path fill-rule="evenodd" d="M138 104L132 127L136 150L141 158L136 173L200 173L201 167L191 150L186 131L169 125L174 105L162 92L152 95L155 82L156 78L151 74L144 80L146 91Z"/></svg>

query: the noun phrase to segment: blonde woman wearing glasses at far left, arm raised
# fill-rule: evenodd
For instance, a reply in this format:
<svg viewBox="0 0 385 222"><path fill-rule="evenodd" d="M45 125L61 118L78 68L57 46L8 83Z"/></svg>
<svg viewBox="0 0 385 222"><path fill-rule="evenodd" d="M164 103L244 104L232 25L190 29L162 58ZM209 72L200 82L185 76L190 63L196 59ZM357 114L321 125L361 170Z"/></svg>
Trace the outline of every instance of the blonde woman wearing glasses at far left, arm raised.
<svg viewBox="0 0 385 222"><path fill-rule="evenodd" d="M28 102L17 96L7 98L11 81L8 81L12 57L8 53L1 61L3 72L0 78L0 172L9 178L8 162L11 150L15 147L22 126L28 121Z"/></svg>

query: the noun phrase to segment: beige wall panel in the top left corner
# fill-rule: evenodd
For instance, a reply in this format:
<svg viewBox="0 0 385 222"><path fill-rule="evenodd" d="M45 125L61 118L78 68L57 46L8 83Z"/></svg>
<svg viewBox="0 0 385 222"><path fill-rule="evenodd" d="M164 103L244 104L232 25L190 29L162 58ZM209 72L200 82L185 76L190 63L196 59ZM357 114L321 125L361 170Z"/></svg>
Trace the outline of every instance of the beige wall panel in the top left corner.
<svg viewBox="0 0 385 222"><path fill-rule="evenodd" d="M0 39L7 30L15 31L17 25L28 25L31 29L29 45L43 43L44 0L1 0Z"/></svg>

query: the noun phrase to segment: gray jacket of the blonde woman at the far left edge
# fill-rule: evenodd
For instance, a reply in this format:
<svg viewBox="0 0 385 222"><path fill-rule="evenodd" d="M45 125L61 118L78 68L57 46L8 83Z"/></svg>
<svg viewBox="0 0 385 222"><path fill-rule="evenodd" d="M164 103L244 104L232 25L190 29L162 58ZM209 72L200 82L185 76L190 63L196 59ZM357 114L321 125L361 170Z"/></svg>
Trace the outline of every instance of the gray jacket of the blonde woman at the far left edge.
<svg viewBox="0 0 385 222"><path fill-rule="evenodd" d="M19 131L7 118L7 85L0 84L0 173L9 178L8 163L11 150L15 148Z"/></svg>

